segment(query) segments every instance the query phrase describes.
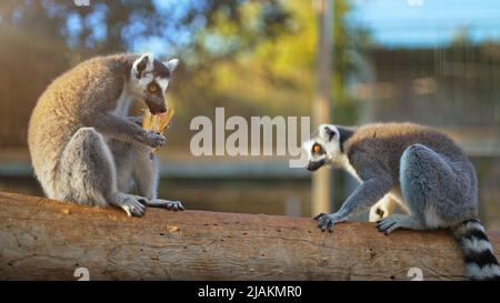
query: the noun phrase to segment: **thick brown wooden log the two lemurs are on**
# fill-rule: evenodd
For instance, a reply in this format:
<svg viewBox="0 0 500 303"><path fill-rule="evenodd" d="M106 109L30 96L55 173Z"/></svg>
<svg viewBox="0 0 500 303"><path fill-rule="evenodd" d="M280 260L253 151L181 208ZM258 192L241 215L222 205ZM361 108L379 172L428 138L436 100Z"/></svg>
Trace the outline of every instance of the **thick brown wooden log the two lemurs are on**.
<svg viewBox="0 0 500 303"><path fill-rule="evenodd" d="M496 251L500 234L489 233ZM449 233L342 223L320 232L309 218L171 212L143 218L0 193L0 279L76 280L461 280ZM418 271L418 270L417 270Z"/></svg>

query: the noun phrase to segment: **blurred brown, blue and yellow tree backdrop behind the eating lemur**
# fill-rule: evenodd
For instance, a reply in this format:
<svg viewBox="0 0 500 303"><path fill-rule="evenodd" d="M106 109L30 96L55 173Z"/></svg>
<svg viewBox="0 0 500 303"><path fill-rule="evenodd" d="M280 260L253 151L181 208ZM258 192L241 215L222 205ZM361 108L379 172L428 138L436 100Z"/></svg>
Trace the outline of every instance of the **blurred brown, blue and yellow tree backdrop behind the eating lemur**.
<svg viewBox="0 0 500 303"><path fill-rule="evenodd" d="M346 91L362 32L336 2L333 100L336 121L356 122ZM0 2L0 145L26 145L29 114L44 87L82 60L113 52L152 51L179 57L170 100L178 109L173 145L189 144L189 121L227 114L309 115L314 87L317 22L311 1L91 1ZM30 83L27 85L27 83ZM12 90L11 88L23 88ZM22 104L20 107L20 104Z"/></svg>

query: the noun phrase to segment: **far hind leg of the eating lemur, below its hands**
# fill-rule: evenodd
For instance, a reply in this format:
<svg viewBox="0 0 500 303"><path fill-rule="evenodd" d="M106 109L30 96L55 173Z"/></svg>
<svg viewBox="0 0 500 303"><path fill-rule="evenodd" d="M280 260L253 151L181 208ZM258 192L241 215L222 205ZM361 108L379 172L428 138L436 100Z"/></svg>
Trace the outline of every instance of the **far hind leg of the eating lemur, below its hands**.
<svg viewBox="0 0 500 303"><path fill-rule="evenodd" d="M137 147L133 150L133 180L140 195L148 199L147 205L164 208L173 211L183 211L184 206L179 201L162 200L157 198L159 163L150 148Z"/></svg>

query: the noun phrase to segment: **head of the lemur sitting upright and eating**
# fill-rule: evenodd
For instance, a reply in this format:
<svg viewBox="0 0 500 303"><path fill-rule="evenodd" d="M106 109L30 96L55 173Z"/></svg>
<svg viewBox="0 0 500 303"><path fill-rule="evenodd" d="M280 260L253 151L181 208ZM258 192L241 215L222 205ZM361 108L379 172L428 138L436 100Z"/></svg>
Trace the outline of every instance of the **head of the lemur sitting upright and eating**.
<svg viewBox="0 0 500 303"><path fill-rule="evenodd" d="M161 62L152 54L137 59L130 71L130 87L136 98L144 100L152 114L167 111L166 93L178 59Z"/></svg>

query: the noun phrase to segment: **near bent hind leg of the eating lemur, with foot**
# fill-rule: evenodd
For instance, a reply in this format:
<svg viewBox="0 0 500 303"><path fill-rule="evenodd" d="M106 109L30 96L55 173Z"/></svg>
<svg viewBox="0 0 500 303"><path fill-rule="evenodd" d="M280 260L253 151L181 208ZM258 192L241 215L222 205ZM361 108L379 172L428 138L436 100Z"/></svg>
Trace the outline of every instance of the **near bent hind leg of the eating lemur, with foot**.
<svg viewBox="0 0 500 303"><path fill-rule="evenodd" d="M146 201L117 190L113 158L102 135L81 128L64 148L59 166L57 195L86 205L117 205L129 215L142 215Z"/></svg>

